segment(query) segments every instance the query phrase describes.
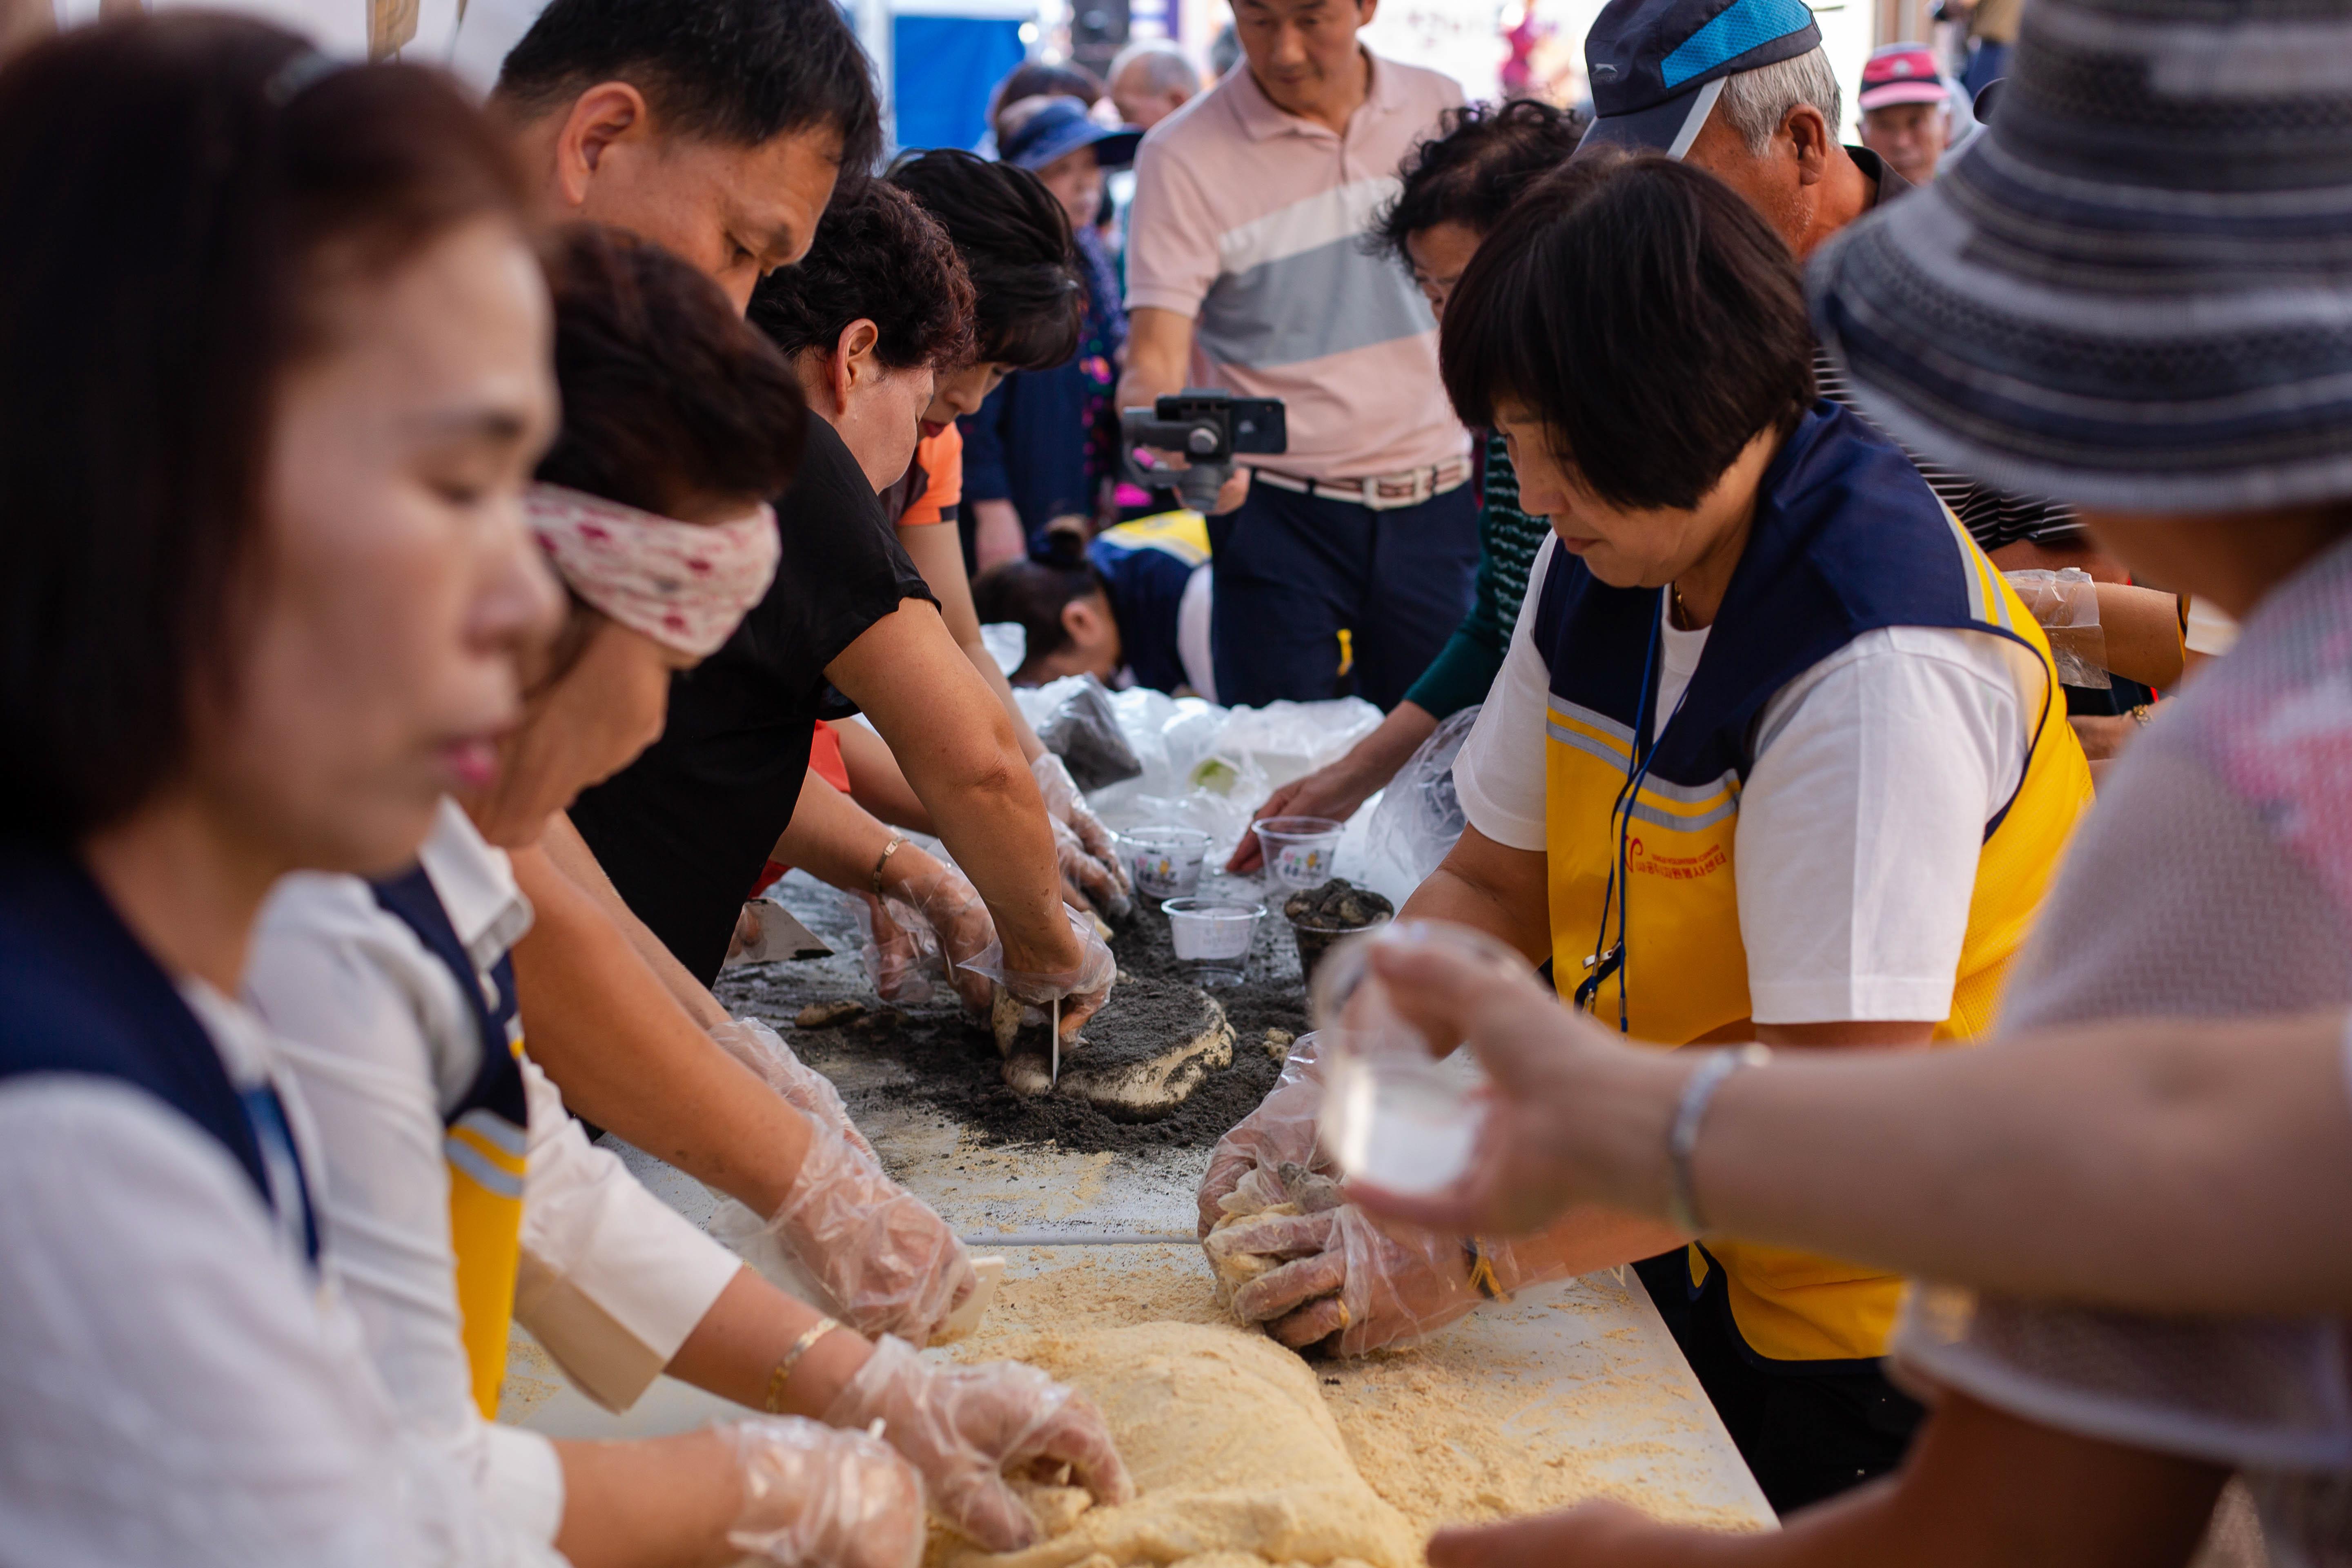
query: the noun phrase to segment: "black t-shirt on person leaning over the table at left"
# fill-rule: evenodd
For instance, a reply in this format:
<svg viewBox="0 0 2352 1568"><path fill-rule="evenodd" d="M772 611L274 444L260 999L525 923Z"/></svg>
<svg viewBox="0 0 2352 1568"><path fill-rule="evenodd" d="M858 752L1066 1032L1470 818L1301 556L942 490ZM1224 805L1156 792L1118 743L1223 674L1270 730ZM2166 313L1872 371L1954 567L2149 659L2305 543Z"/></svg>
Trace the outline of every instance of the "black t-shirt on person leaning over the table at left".
<svg viewBox="0 0 2352 1568"><path fill-rule="evenodd" d="M661 741L572 806L621 898L703 985L793 820L816 719L856 712L826 665L901 602L938 602L821 418L776 531L776 583L727 646L670 679Z"/></svg>

